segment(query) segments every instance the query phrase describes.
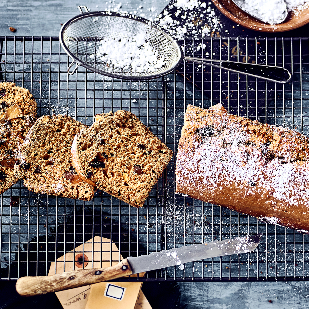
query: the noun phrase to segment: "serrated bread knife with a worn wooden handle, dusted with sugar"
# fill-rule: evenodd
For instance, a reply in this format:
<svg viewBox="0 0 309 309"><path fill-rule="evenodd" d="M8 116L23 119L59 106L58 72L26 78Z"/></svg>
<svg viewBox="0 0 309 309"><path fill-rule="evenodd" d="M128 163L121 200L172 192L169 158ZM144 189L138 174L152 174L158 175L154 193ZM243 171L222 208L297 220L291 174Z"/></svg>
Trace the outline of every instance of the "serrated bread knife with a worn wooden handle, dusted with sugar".
<svg viewBox="0 0 309 309"><path fill-rule="evenodd" d="M262 234L248 235L138 257L129 256L112 267L72 270L52 276L21 277L16 282L16 290L22 296L41 295L211 257L247 253L257 247L261 237Z"/></svg>

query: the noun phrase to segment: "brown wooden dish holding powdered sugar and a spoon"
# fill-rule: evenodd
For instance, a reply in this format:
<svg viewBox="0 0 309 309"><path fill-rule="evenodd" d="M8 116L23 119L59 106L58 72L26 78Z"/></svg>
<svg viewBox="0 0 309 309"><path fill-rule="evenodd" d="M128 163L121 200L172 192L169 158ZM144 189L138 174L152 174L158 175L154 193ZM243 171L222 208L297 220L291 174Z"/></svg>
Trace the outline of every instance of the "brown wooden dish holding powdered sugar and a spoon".
<svg viewBox="0 0 309 309"><path fill-rule="evenodd" d="M309 23L309 7L303 11L297 11L296 14L294 12L289 12L287 19L283 23L269 25L255 19L251 15L248 15L231 0L212 0L212 2L214 2L214 5L218 10L226 17L233 20L235 23L252 30L262 32L283 32L299 28Z"/></svg>

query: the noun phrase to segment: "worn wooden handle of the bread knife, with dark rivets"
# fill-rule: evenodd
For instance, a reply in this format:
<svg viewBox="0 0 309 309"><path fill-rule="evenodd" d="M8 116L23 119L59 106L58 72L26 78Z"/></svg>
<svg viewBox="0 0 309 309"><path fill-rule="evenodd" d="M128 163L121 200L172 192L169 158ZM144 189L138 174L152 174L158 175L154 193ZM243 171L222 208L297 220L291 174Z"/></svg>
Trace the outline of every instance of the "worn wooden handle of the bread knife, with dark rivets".
<svg viewBox="0 0 309 309"><path fill-rule="evenodd" d="M124 259L112 267L72 270L52 276L21 277L16 282L16 291L22 296L42 295L129 275L132 275L132 270L128 260Z"/></svg>

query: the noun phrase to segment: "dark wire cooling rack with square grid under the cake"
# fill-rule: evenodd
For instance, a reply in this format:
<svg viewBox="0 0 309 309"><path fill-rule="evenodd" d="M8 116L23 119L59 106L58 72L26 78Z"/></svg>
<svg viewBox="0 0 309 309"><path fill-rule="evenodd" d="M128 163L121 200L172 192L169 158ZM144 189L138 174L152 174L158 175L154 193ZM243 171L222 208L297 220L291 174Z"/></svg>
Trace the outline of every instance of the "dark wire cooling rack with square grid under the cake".
<svg viewBox="0 0 309 309"><path fill-rule="evenodd" d="M97 113L126 109L174 152L140 209L101 191L84 202L32 193L22 181L13 185L1 197L1 279L45 275L51 262L95 236L116 243L118 261L120 254L138 256L259 232L263 237L254 252L121 280L309 280L308 235L175 194L177 145L187 104L208 108L221 102L232 114L308 134L308 38L207 38L182 46L187 56L283 65L293 82L275 84L193 63L148 81L112 79L83 67L70 76L71 61L57 37L0 37L0 82L28 88L38 116L68 114L91 125ZM78 253L93 252L74 250Z"/></svg>

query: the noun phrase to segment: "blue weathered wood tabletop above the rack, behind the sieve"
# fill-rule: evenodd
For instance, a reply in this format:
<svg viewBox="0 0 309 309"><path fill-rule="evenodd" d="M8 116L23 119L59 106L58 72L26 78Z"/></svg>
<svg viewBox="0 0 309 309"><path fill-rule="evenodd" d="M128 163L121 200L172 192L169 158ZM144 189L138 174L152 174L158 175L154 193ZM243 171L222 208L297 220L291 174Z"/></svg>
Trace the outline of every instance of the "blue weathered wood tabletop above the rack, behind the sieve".
<svg viewBox="0 0 309 309"><path fill-rule="evenodd" d="M166 0L1 0L0 36L11 36L9 27L17 29L16 36L58 36L60 24L80 14L77 6L86 5L91 11L100 11L116 8L121 2L121 11L145 14L146 19L156 17L167 5Z"/></svg>

